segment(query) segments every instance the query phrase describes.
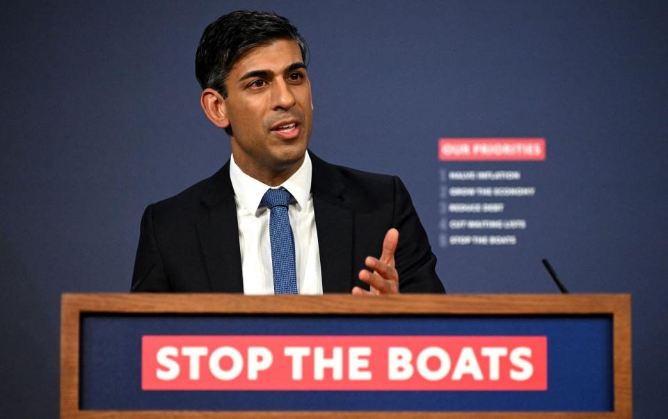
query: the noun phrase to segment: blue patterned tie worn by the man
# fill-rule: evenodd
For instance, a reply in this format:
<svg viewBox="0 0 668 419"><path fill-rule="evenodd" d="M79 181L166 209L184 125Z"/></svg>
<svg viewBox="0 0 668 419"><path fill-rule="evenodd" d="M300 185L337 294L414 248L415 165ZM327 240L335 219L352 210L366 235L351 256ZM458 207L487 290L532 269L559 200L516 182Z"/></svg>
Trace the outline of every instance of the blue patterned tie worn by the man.
<svg viewBox="0 0 668 419"><path fill-rule="evenodd" d="M287 215L292 195L283 188L269 189L262 203L269 207L269 239L274 294L297 294L297 275L294 268L294 237Z"/></svg>

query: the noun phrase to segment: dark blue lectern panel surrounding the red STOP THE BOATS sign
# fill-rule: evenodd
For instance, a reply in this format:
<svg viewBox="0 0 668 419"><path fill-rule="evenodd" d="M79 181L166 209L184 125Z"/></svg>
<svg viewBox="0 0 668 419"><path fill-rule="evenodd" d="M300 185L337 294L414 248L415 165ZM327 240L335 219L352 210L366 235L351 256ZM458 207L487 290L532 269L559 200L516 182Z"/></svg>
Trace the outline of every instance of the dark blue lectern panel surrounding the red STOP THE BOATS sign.
<svg viewBox="0 0 668 419"><path fill-rule="evenodd" d="M144 335L545 336L547 390L155 391ZM612 316L104 315L81 319L81 410L612 411Z"/></svg>

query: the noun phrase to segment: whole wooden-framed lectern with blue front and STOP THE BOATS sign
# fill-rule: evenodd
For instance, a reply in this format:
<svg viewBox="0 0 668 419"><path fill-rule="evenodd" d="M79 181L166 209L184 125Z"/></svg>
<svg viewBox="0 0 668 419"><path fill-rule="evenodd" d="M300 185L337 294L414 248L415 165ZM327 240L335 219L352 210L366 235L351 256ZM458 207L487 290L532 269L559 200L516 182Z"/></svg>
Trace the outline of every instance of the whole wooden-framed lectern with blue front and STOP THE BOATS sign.
<svg viewBox="0 0 668 419"><path fill-rule="evenodd" d="M628 294L63 294L63 418L630 418Z"/></svg>

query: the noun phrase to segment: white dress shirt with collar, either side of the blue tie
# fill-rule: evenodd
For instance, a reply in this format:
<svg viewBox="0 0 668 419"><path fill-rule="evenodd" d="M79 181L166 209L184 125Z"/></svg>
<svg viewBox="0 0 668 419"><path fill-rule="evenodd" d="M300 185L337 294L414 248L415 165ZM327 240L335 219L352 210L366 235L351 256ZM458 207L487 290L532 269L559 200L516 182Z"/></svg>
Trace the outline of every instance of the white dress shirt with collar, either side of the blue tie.
<svg viewBox="0 0 668 419"><path fill-rule="evenodd" d="M294 258L299 294L322 294L320 252L311 195L311 159L306 153L301 167L278 187L294 198L288 215L294 236ZM230 158L230 180L237 203L241 272L244 294L273 294L269 214L262 196L270 187L246 175Z"/></svg>

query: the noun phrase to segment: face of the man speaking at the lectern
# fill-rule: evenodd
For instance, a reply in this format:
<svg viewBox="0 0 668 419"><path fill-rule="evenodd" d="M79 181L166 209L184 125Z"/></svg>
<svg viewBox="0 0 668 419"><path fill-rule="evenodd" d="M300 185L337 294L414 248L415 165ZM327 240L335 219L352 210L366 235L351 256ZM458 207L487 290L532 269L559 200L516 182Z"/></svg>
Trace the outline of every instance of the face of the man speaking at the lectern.
<svg viewBox="0 0 668 419"><path fill-rule="evenodd" d="M234 161L246 174L296 171L312 127L311 86L294 40L251 49L225 82ZM292 173L290 173L292 174Z"/></svg>

